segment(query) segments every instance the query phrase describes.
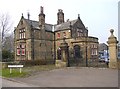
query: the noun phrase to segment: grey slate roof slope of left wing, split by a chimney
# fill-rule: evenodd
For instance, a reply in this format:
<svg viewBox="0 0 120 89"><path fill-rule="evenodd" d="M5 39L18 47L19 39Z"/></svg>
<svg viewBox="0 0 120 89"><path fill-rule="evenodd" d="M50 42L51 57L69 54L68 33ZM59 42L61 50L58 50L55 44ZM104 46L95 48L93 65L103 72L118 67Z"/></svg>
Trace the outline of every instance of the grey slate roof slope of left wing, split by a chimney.
<svg viewBox="0 0 120 89"><path fill-rule="evenodd" d="M36 29L40 29L38 21L29 20L29 19L25 19L25 21L29 24L29 26L32 26L33 28L36 28ZM52 31L52 27L53 27L52 24L45 23L45 30L46 31Z"/></svg>

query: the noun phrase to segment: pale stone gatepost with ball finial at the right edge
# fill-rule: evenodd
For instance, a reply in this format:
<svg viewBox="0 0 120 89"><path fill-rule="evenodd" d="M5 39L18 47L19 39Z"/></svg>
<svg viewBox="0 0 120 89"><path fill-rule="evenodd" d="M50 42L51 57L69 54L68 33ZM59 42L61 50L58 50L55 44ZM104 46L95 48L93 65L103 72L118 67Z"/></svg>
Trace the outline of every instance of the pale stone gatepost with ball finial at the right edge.
<svg viewBox="0 0 120 89"><path fill-rule="evenodd" d="M111 29L111 36L108 38L108 49L109 49L109 68L118 68L117 65L117 38L113 35L114 30Z"/></svg>

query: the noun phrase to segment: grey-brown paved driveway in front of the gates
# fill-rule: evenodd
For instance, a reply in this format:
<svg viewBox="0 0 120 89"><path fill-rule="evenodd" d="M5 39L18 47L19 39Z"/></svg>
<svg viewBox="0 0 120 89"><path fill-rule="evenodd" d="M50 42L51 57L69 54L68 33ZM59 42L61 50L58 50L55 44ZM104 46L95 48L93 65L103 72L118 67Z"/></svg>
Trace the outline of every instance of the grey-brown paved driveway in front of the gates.
<svg viewBox="0 0 120 89"><path fill-rule="evenodd" d="M118 70L70 67L42 71L30 77L11 80L37 87L118 87Z"/></svg>

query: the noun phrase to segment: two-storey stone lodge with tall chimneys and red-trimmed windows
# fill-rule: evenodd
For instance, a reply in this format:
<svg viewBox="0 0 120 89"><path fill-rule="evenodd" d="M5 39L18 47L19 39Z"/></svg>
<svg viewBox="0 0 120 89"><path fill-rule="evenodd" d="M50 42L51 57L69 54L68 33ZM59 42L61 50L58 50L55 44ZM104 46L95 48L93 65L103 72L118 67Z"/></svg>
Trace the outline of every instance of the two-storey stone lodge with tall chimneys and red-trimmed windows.
<svg viewBox="0 0 120 89"><path fill-rule="evenodd" d="M77 19L64 21L63 10L57 13L57 24L45 23L43 7L39 21L22 15L14 30L15 61L21 60L60 60L60 43L63 38L69 45L69 57L85 59L98 58L98 38L88 36L88 29L78 15ZM87 54L86 54L87 53Z"/></svg>

